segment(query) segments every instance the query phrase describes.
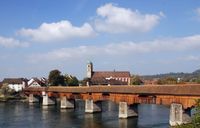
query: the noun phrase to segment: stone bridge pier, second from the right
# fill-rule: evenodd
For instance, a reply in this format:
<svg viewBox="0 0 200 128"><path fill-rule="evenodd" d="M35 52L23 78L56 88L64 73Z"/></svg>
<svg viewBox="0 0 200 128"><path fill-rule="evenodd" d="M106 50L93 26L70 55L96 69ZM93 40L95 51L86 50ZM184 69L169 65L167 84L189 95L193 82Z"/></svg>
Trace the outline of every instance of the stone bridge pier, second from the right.
<svg viewBox="0 0 200 128"><path fill-rule="evenodd" d="M137 105L134 106L137 109ZM138 114L127 102L119 102L119 118L137 117Z"/></svg>

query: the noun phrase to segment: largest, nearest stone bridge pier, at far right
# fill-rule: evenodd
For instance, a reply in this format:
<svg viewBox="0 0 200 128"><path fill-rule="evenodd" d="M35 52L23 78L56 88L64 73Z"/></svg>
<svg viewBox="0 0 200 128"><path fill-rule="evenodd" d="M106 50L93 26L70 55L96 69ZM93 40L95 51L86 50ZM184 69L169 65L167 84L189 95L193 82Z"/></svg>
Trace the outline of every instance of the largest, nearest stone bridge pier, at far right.
<svg viewBox="0 0 200 128"><path fill-rule="evenodd" d="M184 112L182 104L172 103L170 107L169 124L176 126L191 123L191 117Z"/></svg>

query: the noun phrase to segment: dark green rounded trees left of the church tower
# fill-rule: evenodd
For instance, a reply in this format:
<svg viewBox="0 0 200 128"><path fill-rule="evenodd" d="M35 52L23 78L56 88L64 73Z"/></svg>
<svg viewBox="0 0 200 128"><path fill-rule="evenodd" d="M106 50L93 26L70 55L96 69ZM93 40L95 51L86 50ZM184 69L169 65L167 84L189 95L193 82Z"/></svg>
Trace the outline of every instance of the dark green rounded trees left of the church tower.
<svg viewBox="0 0 200 128"><path fill-rule="evenodd" d="M79 81L75 76L62 75L59 70L52 70L49 73L50 86L78 86Z"/></svg>

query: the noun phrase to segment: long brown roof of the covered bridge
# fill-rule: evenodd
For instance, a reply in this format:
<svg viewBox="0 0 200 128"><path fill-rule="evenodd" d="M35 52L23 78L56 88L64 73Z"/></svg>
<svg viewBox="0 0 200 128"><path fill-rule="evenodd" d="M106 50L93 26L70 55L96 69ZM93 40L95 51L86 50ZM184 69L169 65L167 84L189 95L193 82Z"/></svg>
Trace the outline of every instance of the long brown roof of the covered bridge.
<svg viewBox="0 0 200 128"><path fill-rule="evenodd" d="M192 85L145 85L145 86L90 86L27 88L25 91L47 91L60 93L122 93L122 94L156 94L200 96L200 84Z"/></svg>

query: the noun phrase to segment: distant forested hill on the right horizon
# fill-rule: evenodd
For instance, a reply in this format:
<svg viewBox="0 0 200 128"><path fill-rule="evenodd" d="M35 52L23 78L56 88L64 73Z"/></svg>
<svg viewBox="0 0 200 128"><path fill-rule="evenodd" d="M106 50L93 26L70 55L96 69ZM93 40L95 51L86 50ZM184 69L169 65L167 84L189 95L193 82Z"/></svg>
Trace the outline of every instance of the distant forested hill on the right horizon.
<svg viewBox="0 0 200 128"><path fill-rule="evenodd" d="M160 79L160 78L166 78L166 77L173 77L173 78L181 78L184 81L191 81L193 79L199 79L200 78L200 69L192 72L192 73L166 73L166 74L157 74L157 75L145 75L141 76L143 79L150 80L150 79Z"/></svg>

